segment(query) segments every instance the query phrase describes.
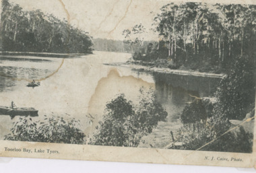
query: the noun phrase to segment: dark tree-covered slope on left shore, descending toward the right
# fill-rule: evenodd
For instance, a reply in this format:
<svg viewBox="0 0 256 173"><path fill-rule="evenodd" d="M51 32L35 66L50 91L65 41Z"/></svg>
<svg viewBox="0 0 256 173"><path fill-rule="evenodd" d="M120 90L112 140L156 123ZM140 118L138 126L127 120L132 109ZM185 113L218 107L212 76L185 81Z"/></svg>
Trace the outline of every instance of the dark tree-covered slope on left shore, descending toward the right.
<svg viewBox="0 0 256 173"><path fill-rule="evenodd" d="M25 11L18 4L2 1L1 45L3 51L90 53L88 32L59 20L40 9Z"/></svg>

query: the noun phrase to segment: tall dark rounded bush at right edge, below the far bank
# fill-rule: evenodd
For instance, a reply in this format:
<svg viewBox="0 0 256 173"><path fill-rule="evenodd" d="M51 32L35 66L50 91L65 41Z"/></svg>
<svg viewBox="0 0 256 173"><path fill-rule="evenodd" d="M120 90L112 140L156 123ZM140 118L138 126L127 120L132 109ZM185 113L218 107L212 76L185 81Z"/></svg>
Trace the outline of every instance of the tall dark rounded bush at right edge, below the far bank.
<svg viewBox="0 0 256 173"><path fill-rule="evenodd" d="M253 65L245 57L236 59L233 69L220 81L214 114L242 120L255 103Z"/></svg>

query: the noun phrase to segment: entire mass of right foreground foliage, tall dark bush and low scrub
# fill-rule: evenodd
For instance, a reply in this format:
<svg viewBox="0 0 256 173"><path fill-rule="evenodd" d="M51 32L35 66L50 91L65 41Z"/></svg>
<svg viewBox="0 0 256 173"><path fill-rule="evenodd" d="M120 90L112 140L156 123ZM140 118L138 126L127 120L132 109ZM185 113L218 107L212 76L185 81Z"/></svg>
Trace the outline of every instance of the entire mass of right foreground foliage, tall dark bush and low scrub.
<svg viewBox="0 0 256 173"><path fill-rule="evenodd" d="M245 119L255 107L253 70L248 59L236 59L233 70L220 82L216 102L203 104L197 99L185 107L181 114L184 126L177 137L184 144L182 149L252 151L253 133L247 133L243 127L228 130L234 127L230 120Z"/></svg>

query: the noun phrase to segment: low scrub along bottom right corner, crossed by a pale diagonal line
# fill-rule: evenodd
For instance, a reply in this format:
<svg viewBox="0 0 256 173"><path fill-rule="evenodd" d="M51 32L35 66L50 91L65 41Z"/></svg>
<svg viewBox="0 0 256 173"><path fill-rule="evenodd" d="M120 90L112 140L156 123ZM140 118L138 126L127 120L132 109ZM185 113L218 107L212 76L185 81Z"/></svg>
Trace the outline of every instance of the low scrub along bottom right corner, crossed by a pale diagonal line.
<svg viewBox="0 0 256 173"><path fill-rule="evenodd" d="M183 142L180 149L251 153L253 135L246 133L243 127L238 128L239 133L226 133L228 129L230 123L221 118L210 124L197 122L185 125L178 135Z"/></svg>

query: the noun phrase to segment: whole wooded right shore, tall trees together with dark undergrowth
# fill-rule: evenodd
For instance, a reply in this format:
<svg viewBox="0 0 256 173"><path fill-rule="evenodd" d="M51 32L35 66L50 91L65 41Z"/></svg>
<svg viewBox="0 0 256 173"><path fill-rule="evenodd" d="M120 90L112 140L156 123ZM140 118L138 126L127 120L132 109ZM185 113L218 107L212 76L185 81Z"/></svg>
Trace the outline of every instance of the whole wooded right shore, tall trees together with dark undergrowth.
<svg viewBox="0 0 256 173"><path fill-rule="evenodd" d="M230 64L238 56L248 55L253 62L255 9L256 5L238 4L190 2L164 5L154 18L155 31L162 41L149 45L152 48L146 55L134 56L134 59L166 59L163 63L166 67L168 61L172 61L170 68L187 67L216 73L231 69ZM133 35L133 40L140 35L132 30L125 33Z"/></svg>

